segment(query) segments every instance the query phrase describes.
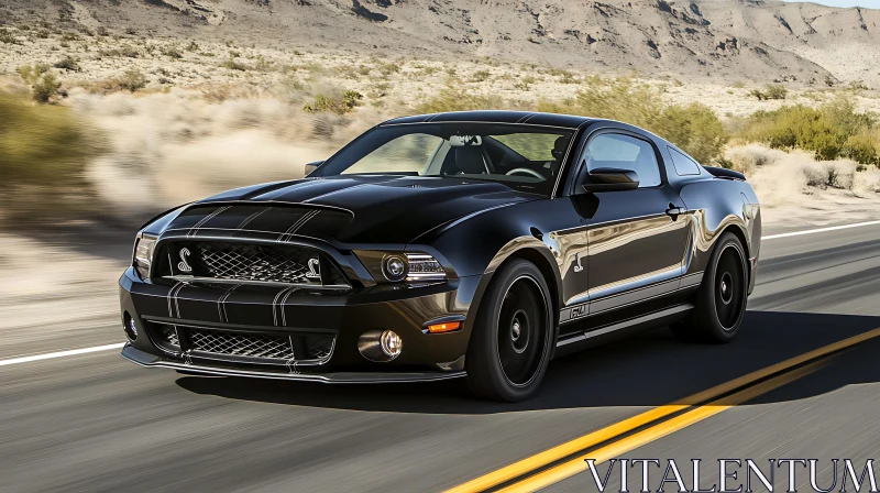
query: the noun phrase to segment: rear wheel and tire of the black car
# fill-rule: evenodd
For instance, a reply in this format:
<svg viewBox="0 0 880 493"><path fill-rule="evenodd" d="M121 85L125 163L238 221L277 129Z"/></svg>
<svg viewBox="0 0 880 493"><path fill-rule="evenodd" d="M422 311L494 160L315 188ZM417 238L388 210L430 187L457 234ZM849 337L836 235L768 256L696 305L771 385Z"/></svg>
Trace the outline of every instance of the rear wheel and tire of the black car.
<svg viewBox="0 0 880 493"><path fill-rule="evenodd" d="M748 298L746 251L733 233L724 233L712 252L696 295L696 304L684 321L673 325L679 339L725 343L739 332Z"/></svg>

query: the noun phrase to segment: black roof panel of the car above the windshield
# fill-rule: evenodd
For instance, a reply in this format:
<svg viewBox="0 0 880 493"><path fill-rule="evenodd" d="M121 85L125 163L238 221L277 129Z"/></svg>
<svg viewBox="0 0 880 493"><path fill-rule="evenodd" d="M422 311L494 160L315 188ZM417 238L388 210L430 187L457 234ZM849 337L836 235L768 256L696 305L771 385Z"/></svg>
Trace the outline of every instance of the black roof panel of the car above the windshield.
<svg viewBox="0 0 880 493"><path fill-rule="evenodd" d="M543 113L538 111L476 110L449 111L443 113L416 114L400 117L382 123L384 125L408 123L443 123L443 122L485 122L485 123L521 123L530 125L560 127L576 129L596 119L573 114Z"/></svg>

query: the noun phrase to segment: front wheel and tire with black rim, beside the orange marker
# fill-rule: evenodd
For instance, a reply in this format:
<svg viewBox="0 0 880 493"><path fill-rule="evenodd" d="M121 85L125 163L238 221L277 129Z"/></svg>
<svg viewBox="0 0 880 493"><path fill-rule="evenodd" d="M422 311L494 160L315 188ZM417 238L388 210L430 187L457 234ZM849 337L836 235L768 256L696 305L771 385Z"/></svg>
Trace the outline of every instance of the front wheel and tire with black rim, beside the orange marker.
<svg viewBox="0 0 880 493"><path fill-rule="evenodd" d="M531 262L514 260L495 273L464 360L474 395L518 402L538 391L556 333L549 293Z"/></svg>

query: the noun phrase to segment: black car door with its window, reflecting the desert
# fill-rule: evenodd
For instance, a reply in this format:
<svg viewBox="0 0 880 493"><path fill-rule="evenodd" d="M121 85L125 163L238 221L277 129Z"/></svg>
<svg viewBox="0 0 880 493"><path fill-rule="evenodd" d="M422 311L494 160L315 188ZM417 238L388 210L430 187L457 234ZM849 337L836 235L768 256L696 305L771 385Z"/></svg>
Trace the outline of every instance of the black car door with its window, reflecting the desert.
<svg viewBox="0 0 880 493"><path fill-rule="evenodd" d="M585 227L572 232L566 310L562 321L635 305L673 292L682 274L689 241L686 213L678 194L667 184L657 146L625 130L591 134L579 161L572 200ZM634 171L636 189L588 191L588 172L598 168ZM575 292L576 291L576 292Z"/></svg>

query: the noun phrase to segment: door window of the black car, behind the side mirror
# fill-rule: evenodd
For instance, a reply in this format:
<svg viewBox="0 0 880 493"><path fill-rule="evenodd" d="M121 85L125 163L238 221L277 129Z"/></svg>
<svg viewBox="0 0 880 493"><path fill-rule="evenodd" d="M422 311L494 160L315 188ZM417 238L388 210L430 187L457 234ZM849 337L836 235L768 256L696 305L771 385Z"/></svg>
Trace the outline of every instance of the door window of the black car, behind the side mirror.
<svg viewBox="0 0 880 493"><path fill-rule="evenodd" d="M660 185L660 167L653 146L641 139L603 133L590 141L583 160L591 172L602 167L636 172L639 175L639 188Z"/></svg>

